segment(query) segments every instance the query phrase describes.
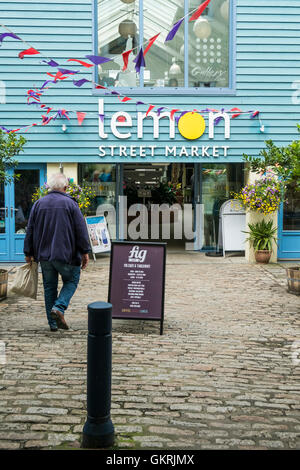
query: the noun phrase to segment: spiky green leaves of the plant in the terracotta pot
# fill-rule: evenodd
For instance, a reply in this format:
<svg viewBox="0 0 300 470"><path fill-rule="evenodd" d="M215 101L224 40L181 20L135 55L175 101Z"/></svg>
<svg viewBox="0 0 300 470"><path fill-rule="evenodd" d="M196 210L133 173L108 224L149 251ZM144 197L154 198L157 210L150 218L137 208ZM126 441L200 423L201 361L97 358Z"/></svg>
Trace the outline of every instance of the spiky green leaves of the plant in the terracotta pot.
<svg viewBox="0 0 300 470"><path fill-rule="evenodd" d="M258 250L272 250L272 242L277 243L277 238L275 237L277 228L273 227L273 221L269 220L266 222L262 220L255 224L248 224L249 232L244 232L249 234L249 237L246 241L249 241L253 246L255 251Z"/></svg>

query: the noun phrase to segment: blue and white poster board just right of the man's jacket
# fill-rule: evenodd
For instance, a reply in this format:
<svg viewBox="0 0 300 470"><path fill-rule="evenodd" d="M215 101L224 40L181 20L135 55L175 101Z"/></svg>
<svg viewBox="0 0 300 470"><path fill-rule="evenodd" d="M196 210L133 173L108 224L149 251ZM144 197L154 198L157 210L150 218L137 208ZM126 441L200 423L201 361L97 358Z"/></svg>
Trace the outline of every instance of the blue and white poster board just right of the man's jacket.
<svg viewBox="0 0 300 470"><path fill-rule="evenodd" d="M105 253L111 250L111 241L104 215L85 218L92 252L95 260L95 253Z"/></svg>

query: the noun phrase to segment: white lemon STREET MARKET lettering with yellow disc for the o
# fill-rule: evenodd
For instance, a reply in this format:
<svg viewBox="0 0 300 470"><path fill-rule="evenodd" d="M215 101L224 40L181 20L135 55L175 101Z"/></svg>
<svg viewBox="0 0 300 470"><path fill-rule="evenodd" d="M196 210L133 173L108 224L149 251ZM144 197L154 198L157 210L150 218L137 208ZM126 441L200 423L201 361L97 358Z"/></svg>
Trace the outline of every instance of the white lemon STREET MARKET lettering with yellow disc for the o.
<svg viewBox="0 0 300 470"><path fill-rule="evenodd" d="M136 134L138 139L144 137L145 121L152 120L153 125L153 139L160 137L160 121L161 119L168 119L168 139L171 141L175 137L176 120L171 117L169 111L161 112L160 115L154 112L143 113L137 112ZM104 120L105 109L104 100L99 99L99 137L104 142L109 140L110 133L122 141L126 141L132 137L133 119L130 113L125 111L118 111L110 118L108 125ZM225 112L210 112L208 114L208 137L209 139L215 138L215 123L216 120L224 121L224 139L230 139L230 115ZM202 137L206 131L206 122L203 116L197 112L187 112L178 121L178 130L182 137L189 141L195 141ZM111 142L110 142L111 143ZM227 157L229 151L228 145L166 145L163 150L159 145L100 145L99 156L104 157L155 157L158 155L162 157ZM162 154L163 152L163 154Z"/></svg>

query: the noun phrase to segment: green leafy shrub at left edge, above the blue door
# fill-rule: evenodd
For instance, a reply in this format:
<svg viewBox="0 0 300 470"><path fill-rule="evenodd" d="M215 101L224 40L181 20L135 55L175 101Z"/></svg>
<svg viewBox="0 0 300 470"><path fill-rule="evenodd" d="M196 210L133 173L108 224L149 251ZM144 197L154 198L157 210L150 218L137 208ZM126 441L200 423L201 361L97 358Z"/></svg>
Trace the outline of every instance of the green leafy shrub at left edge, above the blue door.
<svg viewBox="0 0 300 470"><path fill-rule="evenodd" d="M0 183L10 183L13 180L14 177L7 174L7 169L18 165L15 157L23 152L25 144L26 139L22 135L14 132L7 134L0 129Z"/></svg>

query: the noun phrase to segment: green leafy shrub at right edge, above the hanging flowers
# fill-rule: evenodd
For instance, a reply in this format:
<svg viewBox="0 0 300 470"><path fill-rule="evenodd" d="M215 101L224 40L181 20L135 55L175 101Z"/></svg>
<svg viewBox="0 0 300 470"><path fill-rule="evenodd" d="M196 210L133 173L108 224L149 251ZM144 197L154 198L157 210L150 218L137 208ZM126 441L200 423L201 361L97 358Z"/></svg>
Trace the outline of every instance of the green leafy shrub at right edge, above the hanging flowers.
<svg viewBox="0 0 300 470"><path fill-rule="evenodd" d="M297 125L300 131L300 125ZM264 174L271 169L287 187L300 190L300 140L295 140L286 147L277 147L272 140L267 140L266 149L260 157L244 154L244 160L250 163L252 171Z"/></svg>

